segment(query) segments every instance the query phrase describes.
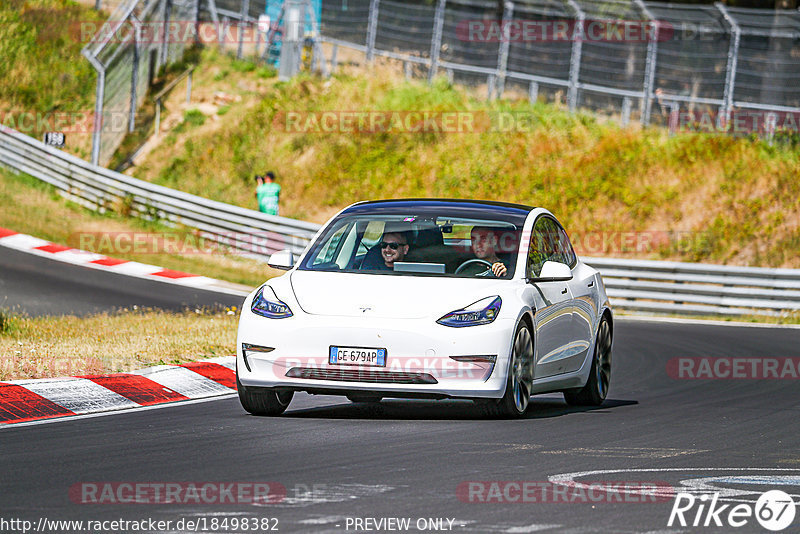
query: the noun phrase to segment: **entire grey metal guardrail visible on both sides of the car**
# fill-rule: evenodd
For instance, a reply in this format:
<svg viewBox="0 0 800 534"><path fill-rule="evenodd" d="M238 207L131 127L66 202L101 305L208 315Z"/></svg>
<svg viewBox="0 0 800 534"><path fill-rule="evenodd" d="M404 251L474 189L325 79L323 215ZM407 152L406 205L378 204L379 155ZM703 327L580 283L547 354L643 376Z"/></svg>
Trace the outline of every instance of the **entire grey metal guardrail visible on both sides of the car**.
<svg viewBox="0 0 800 534"><path fill-rule="evenodd" d="M0 130L0 165L57 187L84 206L119 203L143 218L200 230L244 254L302 252L319 225L265 215L97 167L9 129ZM602 274L614 306L680 314L769 314L800 310L800 269L584 258Z"/></svg>

